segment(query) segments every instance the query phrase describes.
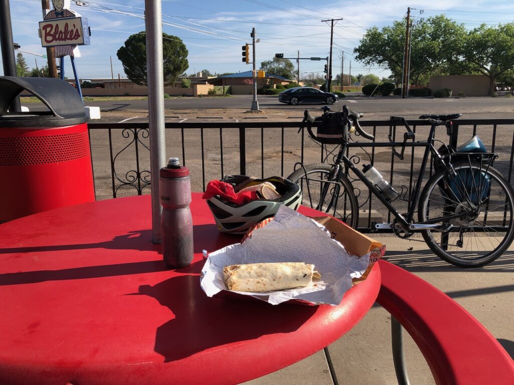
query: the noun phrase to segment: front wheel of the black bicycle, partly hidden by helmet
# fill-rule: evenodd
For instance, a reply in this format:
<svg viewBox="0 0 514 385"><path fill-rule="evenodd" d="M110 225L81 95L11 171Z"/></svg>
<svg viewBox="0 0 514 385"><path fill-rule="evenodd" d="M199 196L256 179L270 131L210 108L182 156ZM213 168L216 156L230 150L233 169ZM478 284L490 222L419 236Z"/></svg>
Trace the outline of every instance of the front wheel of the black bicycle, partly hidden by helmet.
<svg viewBox="0 0 514 385"><path fill-rule="evenodd" d="M309 164L287 177L302 189L302 205L330 214L347 225L357 228L359 205L352 183L341 174L333 180L334 166Z"/></svg>

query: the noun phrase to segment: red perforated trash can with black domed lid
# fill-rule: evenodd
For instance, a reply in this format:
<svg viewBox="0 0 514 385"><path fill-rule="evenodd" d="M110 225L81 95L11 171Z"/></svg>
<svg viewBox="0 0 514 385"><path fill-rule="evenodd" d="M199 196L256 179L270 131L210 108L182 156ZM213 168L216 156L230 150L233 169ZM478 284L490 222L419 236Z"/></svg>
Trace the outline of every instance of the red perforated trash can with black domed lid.
<svg viewBox="0 0 514 385"><path fill-rule="evenodd" d="M0 76L0 223L95 200L84 104L69 83ZM24 90L46 108L8 112Z"/></svg>

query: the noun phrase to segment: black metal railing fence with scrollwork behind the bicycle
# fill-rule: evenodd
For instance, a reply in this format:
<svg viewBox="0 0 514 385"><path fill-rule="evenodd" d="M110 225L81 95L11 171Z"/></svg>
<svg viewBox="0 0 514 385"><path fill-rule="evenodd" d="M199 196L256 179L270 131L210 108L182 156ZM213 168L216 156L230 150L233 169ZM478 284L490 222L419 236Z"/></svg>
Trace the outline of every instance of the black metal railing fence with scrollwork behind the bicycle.
<svg viewBox="0 0 514 385"><path fill-rule="evenodd" d="M416 141L428 137L430 123L412 120ZM424 147L408 145L404 159L391 151L388 135L398 142L403 126L391 125L389 120L362 121L362 127L375 136L373 141L354 137L348 144L347 156L355 164L371 163L395 188L402 191L402 200L395 202L400 212L406 212L407 202L415 186ZM168 156L179 156L192 175L193 191L205 190L207 182L226 175L256 177L287 177L298 164L330 163L337 146L321 147L310 140L300 122L216 122L166 123ZM97 199L141 195L150 192L150 151L147 123L89 123L91 153ZM494 162L510 182L514 157L514 119L456 120L448 137L446 128L436 132L436 141L457 145L478 134L486 148L499 152ZM107 149L108 144L108 149ZM432 175L429 164L425 180ZM364 184L353 180L362 210L359 227L369 228L371 222L391 221L391 213L373 196ZM401 211L405 208L405 211Z"/></svg>

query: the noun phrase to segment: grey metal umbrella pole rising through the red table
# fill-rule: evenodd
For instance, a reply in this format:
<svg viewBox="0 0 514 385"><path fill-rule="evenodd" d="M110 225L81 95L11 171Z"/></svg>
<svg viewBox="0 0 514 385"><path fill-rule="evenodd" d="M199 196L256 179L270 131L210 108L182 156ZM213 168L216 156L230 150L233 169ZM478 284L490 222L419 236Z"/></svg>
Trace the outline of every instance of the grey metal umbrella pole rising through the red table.
<svg viewBox="0 0 514 385"><path fill-rule="evenodd" d="M166 166L164 134L164 79L162 66L161 0L145 0L146 78L148 80L148 123L150 139L150 177L152 188L152 242L160 243L159 170Z"/></svg>

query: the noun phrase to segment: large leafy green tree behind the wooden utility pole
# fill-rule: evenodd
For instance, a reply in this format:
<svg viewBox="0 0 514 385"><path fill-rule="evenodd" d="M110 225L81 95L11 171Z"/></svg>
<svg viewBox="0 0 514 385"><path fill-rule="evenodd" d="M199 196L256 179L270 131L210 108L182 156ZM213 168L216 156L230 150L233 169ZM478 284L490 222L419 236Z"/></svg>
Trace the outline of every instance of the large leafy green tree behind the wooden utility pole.
<svg viewBox="0 0 514 385"><path fill-rule="evenodd" d="M365 65L378 64L388 68L395 77L401 76L405 50L406 20L392 26L366 32L354 49L356 59ZM411 27L410 79L418 84L420 77L435 70L462 70L458 47L466 38L463 24L444 15L420 19Z"/></svg>

